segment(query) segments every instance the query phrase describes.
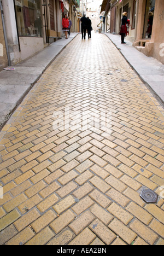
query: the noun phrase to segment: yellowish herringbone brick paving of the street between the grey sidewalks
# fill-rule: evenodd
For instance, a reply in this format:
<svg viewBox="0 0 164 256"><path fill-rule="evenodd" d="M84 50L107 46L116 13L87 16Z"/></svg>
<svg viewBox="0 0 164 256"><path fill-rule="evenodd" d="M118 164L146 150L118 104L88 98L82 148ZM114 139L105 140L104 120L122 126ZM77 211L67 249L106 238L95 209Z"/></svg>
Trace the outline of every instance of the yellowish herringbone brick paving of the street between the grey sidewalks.
<svg viewBox="0 0 164 256"><path fill-rule="evenodd" d="M163 245L163 127L112 42L79 35L0 133L1 245Z"/></svg>

